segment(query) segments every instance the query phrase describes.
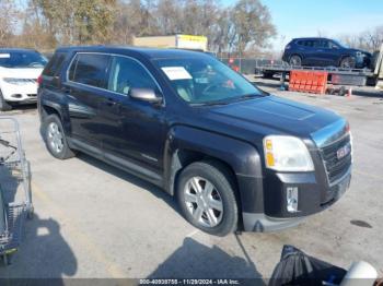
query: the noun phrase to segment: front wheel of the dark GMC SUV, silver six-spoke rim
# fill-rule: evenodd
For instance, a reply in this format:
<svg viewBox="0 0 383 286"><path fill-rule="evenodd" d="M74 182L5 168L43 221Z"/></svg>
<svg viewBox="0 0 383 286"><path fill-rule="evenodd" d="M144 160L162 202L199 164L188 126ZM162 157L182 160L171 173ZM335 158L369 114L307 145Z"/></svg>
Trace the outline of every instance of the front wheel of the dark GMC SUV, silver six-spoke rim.
<svg viewBox="0 0 383 286"><path fill-rule="evenodd" d="M216 236L235 231L235 187L221 164L196 162L187 166L177 180L176 195L183 216L195 227Z"/></svg>

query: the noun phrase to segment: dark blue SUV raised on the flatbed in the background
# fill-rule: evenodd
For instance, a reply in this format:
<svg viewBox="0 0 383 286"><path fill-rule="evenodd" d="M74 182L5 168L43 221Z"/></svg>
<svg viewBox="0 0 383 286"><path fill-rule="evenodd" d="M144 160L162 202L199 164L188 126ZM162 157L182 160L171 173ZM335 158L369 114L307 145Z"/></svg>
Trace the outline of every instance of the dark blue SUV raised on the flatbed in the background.
<svg viewBox="0 0 383 286"><path fill-rule="evenodd" d="M295 38L285 48L282 60L291 65L369 68L371 53L345 47L335 39Z"/></svg>

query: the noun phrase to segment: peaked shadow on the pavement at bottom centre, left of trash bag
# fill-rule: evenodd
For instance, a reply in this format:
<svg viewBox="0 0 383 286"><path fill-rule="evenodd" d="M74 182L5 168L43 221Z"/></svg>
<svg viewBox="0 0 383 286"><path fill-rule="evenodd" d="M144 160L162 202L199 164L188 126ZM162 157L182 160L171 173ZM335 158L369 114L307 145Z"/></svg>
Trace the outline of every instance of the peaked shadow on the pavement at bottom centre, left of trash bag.
<svg viewBox="0 0 383 286"><path fill-rule="evenodd" d="M230 255L218 246L208 247L190 237L148 278L241 278L245 279L241 285L265 285L251 260Z"/></svg>

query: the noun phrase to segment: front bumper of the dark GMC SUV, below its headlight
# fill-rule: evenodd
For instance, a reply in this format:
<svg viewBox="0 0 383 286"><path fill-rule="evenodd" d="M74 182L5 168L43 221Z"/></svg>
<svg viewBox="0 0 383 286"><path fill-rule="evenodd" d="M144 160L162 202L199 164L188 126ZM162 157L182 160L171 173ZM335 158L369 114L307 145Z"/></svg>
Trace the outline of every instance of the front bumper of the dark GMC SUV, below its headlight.
<svg viewBox="0 0 383 286"><path fill-rule="evenodd" d="M351 168L335 183L323 188L315 174L276 174L265 180L264 212L243 212L246 231L276 231L300 224L306 216L322 212L338 201L349 188ZM298 210L288 211L288 188L298 188Z"/></svg>

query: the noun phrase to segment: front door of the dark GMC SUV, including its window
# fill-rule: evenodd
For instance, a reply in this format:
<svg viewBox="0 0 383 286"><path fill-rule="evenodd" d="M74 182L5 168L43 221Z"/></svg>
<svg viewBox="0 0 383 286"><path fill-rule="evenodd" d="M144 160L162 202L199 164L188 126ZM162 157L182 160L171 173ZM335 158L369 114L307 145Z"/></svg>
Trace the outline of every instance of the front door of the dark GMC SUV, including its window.
<svg viewBox="0 0 383 286"><path fill-rule="evenodd" d="M161 174L166 136L165 108L162 104L129 97L131 88L151 88L160 93L158 83L138 60L113 56L107 88L109 94L100 106L107 124L105 129L111 131L103 132L105 156L112 154L109 159L116 163L127 167L144 166Z"/></svg>

